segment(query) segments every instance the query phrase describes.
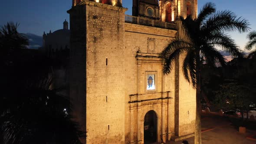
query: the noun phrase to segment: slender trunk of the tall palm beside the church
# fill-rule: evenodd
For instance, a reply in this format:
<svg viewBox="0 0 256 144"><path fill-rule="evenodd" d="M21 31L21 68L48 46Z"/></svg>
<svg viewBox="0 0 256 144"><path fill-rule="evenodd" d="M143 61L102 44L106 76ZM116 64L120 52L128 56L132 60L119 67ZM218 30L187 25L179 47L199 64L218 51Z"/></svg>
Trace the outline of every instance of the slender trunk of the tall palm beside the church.
<svg viewBox="0 0 256 144"><path fill-rule="evenodd" d="M199 60L199 61L197 61L195 144L202 144L200 91L201 91L201 69L200 69L200 60Z"/></svg>

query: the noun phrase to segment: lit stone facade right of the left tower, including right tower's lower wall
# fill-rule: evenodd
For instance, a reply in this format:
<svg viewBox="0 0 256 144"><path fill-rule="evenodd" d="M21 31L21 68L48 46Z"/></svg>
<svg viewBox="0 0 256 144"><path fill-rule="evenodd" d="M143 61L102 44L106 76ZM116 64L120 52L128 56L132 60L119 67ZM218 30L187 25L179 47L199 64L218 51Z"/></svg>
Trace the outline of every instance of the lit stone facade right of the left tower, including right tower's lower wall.
<svg viewBox="0 0 256 144"><path fill-rule="evenodd" d="M158 142L161 142L161 138L166 141L174 136L174 124L177 124L178 137L194 132L195 90L184 79L182 57L169 75L162 73L163 63L158 58L158 54L168 42L177 36L176 32L125 23L126 141L143 142L143 118L150 110L154 110L158 115ZM148 41L154 42L154 48L150 49ZM175 75L175 71L178 75ZM157 72L155 92L146 90L146 72ZM175 95L177 95L177 108L174 108ZM177 115L174 115L175 110ZM175 117L178 120L176 123Z"/></svg>

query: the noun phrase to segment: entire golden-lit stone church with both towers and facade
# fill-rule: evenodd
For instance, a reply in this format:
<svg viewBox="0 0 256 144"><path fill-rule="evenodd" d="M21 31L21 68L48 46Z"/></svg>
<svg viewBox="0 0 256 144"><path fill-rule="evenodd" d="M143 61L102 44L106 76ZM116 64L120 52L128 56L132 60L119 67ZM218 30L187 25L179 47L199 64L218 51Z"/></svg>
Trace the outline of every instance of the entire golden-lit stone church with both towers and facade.
<svg viewBox="0 0 256 144"><path fill-rule="evenodd" d="M197 0L73 0L70 97L87 144L146 144L194 133L195 89L183 56L170 74L160 53L183 36L178 16L197 16Z"/></svg>

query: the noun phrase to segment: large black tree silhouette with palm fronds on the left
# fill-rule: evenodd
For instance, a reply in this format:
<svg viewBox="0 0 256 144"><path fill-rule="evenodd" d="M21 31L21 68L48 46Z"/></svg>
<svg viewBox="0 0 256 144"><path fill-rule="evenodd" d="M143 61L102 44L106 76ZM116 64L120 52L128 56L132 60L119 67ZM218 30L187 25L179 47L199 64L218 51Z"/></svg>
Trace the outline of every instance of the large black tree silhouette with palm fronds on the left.
<svg viewBox="0 0 256 144"><path fill-rule="evenodd" d="M52 89L49 59L25 49L28 39L17 24L0 30L0 135L5 144L80 144L69 99ZM61 91L61 90L60 90Z"/></svg>

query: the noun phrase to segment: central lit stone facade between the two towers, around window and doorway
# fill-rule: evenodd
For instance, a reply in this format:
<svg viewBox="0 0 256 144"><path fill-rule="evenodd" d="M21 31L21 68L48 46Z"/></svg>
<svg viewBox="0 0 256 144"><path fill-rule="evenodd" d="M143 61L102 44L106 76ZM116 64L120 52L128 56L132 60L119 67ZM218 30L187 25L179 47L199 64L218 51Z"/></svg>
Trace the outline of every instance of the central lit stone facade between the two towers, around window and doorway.
<svg viewBox="0 0 256 144"><path fill-rule="evenodd" d="M174 134L174 99L166 98L168 91L169 97L174 95L174 72L163 75L159 54L175 34L175 30L125 23L125 139L130 142L143 141L143 119L150 110L158 115L158 141L160 135L165 139ZM146 90L146 72L157 74L154 92Z"/></svg>

